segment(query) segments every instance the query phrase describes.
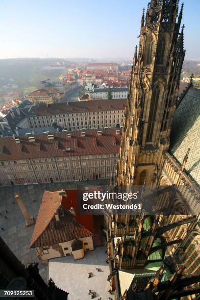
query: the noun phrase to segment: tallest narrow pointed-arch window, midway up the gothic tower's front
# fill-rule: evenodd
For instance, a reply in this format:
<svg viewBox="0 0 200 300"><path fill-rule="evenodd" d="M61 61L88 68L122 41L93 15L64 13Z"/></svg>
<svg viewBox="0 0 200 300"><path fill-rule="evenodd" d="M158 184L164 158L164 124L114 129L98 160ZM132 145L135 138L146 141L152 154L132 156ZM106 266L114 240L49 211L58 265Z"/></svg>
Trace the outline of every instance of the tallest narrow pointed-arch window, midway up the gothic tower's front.
<svg viewBox="0 0 200 300"><path fill-rule="evenodd" d="M160 87L156 86L154 88L151 102L150 102L149 124L147 127L147 139L146 139L146 142L148 143L152 142L153 129L154 129L159 97L160 97Z"/></svg>

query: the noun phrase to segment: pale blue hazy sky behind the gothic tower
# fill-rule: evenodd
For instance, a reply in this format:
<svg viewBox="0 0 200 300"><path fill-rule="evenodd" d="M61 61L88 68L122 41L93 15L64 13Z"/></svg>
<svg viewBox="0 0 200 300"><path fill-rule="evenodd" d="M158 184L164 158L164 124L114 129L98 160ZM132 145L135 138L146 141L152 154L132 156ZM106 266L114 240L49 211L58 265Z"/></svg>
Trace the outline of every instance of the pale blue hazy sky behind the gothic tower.
<svg viewBox="0 0 200 300"><path fill-rule="evenodd" d="M131 57L147 3L0 0L0 58ZM186 58L199 58L200 0L184 3Z"/></svg>

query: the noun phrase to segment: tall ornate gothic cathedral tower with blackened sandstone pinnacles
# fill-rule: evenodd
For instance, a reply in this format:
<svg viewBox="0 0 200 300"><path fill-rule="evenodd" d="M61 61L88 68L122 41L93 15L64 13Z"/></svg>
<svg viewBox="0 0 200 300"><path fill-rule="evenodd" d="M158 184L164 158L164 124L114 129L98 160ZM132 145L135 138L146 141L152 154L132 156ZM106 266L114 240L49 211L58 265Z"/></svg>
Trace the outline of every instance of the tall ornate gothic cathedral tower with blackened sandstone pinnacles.
<svg viewBox="0 0 200 300"><path fill-rule="evenodd" d="M163 150L168 150L184 60L183 4L151 0L143 10L134 54L116 176L118 185L156 184Z"/></svg>

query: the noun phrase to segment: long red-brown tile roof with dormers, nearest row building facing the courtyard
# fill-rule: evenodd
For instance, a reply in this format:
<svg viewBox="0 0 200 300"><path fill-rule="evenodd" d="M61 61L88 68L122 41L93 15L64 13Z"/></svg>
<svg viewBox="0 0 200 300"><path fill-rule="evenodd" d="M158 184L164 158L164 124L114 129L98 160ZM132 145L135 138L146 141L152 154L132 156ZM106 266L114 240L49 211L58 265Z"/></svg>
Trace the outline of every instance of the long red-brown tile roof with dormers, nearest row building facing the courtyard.
<svg viewBox="0 0 200 300"><path fill-rule="evenodd" d="M102 135L97 134L100 130ZM53 140L48 139L48 134L34 136L35 142L30 142L27 135L19 136L20 143L13 137L0 137L0 161L118 153L122 133L116 134L115 129L90 129L85 130L85 136L81 131L56 132Z"/></svg>

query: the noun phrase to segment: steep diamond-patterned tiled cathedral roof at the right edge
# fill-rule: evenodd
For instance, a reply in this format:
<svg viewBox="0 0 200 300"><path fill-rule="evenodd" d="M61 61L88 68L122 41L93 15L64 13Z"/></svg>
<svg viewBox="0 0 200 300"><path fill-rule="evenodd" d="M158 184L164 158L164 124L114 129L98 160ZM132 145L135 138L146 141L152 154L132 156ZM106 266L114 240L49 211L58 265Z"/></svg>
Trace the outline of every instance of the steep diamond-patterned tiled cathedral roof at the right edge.
<svg viewBox="0 0 200 300"><path fill-rule="evenodd" d="M170 152L182 163L188 148L185 170L200 184L200 89L193 86L175 111Z"/></svg>

